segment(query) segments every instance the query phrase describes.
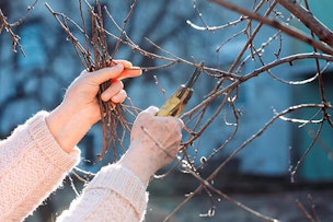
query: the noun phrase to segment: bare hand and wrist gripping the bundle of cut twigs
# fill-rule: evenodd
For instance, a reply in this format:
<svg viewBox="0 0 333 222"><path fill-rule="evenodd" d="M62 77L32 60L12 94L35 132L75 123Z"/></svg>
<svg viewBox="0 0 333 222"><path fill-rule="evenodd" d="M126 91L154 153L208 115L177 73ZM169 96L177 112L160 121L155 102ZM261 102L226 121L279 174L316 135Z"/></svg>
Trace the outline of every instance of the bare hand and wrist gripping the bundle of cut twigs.
<svg viewBox="0 0 333 222"><path fill-rule="evenodd" d="M46 118L50 132L66 152L73 152L72 149L91 126L101 119L96 98L100 84L112 81L111 86L102 93L102 101L122 103L127 94L120 80L141 74L140 69L125 69L133 67L129 61L114 62L114 67L94 72L83 71L68 87L62 103Z"/></svg>

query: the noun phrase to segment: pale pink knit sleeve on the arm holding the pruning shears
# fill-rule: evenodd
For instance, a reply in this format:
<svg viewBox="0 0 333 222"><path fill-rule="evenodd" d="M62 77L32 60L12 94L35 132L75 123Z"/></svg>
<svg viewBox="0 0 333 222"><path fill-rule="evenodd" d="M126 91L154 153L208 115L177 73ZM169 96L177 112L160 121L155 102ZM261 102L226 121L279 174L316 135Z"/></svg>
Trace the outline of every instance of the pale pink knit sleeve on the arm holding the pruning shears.
<svg viewBox="0 0 333 222"><path fill-rule="evenodd" d="M142 221L147 202L146 186L134 173L117 164L107 165L57 222Z"/></svg>

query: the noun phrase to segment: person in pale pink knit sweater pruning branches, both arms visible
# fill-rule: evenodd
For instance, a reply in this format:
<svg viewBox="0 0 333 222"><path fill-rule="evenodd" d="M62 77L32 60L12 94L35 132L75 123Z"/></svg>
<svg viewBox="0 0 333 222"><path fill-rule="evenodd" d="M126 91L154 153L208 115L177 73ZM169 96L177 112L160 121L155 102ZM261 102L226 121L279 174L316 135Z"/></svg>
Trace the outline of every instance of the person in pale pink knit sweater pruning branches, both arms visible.
<svg viewBox="0 0 333 222"><path fill-rule="evenodd" d="M140 75L126 60L94 72L83 71L68 87L59 106L41 110L0 142L0 221L23 221L80 161L78 142L101 119L99 85L112 80L103 101L126 98L123 78ZM141 221L147 186L154 173L176 156L183 122L158 117L151 106L136 118L127 152L103 166L57 221Z"/></svg>

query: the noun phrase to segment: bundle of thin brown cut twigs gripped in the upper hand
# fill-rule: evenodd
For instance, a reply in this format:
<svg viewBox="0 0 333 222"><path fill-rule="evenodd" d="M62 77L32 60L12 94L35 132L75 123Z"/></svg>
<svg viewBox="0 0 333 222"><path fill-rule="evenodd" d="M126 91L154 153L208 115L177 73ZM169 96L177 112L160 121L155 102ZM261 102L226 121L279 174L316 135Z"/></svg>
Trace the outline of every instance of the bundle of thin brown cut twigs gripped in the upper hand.
<svg viewBox="0 0 333 222"><path fill-rule="evenodd" d="M134 3L133 9L129 11L128 17L130 17L130 14L135 9L135 4L136 2ZM95 1L95 5L92 7L88 1L84 0L82 2L79 0L81 16L81 25L79 25L66 14L55 12L47 3L45 3L45 5L66 32L67 39L72 43L81 63L88 71L95 71L115 65L113 62L113 58L118 50L120 42L118 40L114 48L108 46L107 35L110 35L110 33L104 28L104 14L106 13L106 16L112 19L114 24L116 23L107 11L107 8L102 9L99 1ZM84 17L84 7L88 8L89 22ZM122 35L124 35L127 23L128 20L125 20L123 27L117 26L120 30L120 36L118 38L122 38ZM91 34L88 32L88 24L91 24ZM82 34L84 39L83 43L81 43L72 33L70 28L72 25ZM113 51L112 54L110 54L111 50ZM99 95L102 94L102 92L106 90L110 84L112 84L110 81L101 84ZM116 147L119 144L124 149L123 141L126 132L130 129L129 122L126 121L123 113L127 110L127 113L136 116L138 112L133 105L126 106L124 104L113 104L111 101L103 102L101 96L97 96L97 100L101 109L103 129L103 148L101 153L97 154L97 161L103 160L104 155L108 151L108 148L112 145L115 162L117 159ZM122 130L119 130L119 127ZM122 135L119 135L118 131L122 131Z"/></svg>

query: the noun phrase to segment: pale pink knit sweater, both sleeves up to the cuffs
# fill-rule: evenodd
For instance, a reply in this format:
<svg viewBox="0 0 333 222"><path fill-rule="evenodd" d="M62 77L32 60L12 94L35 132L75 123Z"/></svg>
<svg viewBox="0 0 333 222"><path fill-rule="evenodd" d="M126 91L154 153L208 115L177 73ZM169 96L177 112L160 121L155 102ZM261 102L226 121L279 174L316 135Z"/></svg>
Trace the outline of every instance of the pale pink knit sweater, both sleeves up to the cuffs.
<svg viewBox="0 0 333 222"><path fill-rule="evenodd" d="M0 221L23 221L79 162L50 135L39 112L0 141ZM103 167L57 221L140 221L147 207L146 186L116 164Z"/></svg>

